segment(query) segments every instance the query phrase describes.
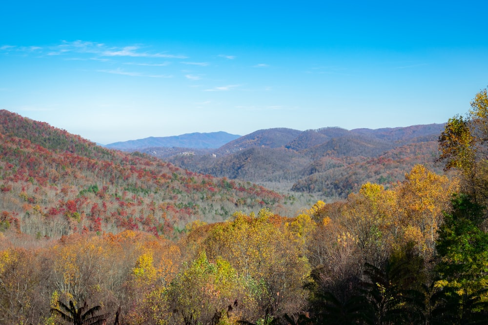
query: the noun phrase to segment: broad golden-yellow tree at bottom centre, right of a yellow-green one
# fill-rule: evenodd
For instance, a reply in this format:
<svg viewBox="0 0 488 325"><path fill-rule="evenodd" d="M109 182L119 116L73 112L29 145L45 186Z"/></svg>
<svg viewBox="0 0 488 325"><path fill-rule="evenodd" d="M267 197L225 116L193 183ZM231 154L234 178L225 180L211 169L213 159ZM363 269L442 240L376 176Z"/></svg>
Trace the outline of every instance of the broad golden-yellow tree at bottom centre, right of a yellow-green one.
<svg viewBox="0 0 488 325"><path fill-rule="evenodd" d="M234 221L215 227L205 241L209 256L222 256L243 277L260 317L266 310L293 314L305 304L309 263L283 223L267 209L236 212Z"/></svg>

